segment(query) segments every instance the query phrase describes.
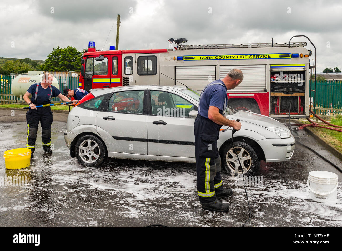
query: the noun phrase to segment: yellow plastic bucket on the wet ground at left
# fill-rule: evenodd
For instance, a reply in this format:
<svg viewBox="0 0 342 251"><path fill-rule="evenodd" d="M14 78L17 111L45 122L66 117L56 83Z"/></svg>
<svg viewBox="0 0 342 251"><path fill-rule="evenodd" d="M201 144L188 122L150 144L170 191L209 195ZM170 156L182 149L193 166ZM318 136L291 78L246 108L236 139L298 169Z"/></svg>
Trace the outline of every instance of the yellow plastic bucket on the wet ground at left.
<svg viewBox="0 0 342 251"><path fill-rule="evenodd" d="M7 150L3 153L3 157L6 169L21 169L30 165L31 150L27 148Z"/></svg>

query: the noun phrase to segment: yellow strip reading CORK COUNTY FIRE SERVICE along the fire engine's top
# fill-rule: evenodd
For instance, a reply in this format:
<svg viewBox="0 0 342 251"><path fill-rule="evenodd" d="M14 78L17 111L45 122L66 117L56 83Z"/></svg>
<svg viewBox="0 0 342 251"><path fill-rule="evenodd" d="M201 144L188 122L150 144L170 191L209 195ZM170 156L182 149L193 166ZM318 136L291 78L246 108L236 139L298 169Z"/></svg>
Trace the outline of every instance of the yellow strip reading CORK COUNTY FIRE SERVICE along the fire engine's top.
<svg viewBox="0 0 342 251"><path fill-rule="evenodd" d="M236 60L236 59L271 59L271 58L291 58L288 54L240 54L240 55L201 55L184 56L184 61L190 60Z"/></svg>

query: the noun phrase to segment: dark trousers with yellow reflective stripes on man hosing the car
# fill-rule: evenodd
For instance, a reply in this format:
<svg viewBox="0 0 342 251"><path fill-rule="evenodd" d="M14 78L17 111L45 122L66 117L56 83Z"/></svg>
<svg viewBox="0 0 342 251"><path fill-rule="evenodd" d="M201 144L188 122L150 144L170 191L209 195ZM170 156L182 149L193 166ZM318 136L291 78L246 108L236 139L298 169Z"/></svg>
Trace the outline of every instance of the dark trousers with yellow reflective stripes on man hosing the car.
<svg viewBox="0 0 342 251"><path fill-rule="evenodd" d="M223 191L221 157L217 148L221 125L197 115L194 124L197 194L202 205L217 202L216 193Z"/></svg>

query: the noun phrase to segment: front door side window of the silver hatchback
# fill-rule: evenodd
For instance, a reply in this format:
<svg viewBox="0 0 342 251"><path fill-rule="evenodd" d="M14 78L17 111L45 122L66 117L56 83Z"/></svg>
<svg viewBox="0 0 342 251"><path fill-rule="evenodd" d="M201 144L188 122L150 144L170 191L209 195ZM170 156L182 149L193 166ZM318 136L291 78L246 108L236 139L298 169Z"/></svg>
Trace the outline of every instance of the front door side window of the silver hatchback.
<svg viewBox="0 0 342 251"><path fill-rule="evenodd" d="M189 112L195 110L192 103L169 92L151 90L152 114L168 117L189 117Z"/></svg>

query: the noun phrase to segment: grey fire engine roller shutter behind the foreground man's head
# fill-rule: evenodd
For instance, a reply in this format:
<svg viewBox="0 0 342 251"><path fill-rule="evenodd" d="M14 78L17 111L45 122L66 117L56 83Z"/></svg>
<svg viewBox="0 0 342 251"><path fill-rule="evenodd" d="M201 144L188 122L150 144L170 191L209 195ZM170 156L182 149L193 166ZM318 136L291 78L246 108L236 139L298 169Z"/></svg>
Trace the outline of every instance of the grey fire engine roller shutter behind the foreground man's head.
<svg viewBox="0 0 342 251"><path fill-rule="evenodd" d="M228 92L264 92L266 65L220 66L220 79L223 79L234 68L240 69L244 73L244 79L237 87Z"/></svg>

